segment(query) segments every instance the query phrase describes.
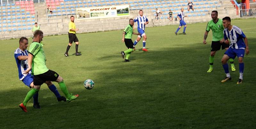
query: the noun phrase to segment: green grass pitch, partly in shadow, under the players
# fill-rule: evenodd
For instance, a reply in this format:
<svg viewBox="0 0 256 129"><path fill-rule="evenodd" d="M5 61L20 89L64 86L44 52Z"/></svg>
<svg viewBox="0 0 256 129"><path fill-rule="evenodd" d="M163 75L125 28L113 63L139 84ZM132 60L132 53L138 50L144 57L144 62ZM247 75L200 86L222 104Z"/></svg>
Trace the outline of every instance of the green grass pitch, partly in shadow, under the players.
<svg viewBox="0 0 256 129"><path fill-rule="evenodd" d="M80 96L70 103L58 102L43 84L42 108L34 109L30 100L27 113L19 104L29 89L19 81L13 56L19 39L1 40L1 128L255 128L255 23L256 19L231 21L243 30L250 48L241 85L236 84L237 58L236 71L230 70L232 80L220 82L225 77L224 50L216 53L213 72L206 73L212 41L209 32L203 44L207 23L188 24L187 35L181 34L182 27L177 36L178 25L146 28L148 52L141 51L141 40L131 62L121 58L120 51L127 49L121 42L123 30L77 34L82 56L74 55L75 45L70 56L64 56L67 35L45 36L47 67L64 78L69 92ZM86 79L95 82L92 90L84 88Z"/></svg>

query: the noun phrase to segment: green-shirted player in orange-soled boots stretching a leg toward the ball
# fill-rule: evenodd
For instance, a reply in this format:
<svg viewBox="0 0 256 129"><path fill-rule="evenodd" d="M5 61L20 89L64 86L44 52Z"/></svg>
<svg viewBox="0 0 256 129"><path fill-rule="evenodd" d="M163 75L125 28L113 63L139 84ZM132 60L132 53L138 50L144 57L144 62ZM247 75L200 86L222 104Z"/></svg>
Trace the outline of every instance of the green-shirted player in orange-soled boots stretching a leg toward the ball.
<svg viewBox="0 0 256 129"><path fill-rule="evenodd" d="M44 49L40 44L40 42L43 40L43 37L44 33L40 30L36 30L34 32L33 42L31 43L28 51L28 68L27 70L24 70L24 73L28 73L32 69L31 74L34 75L34 88L28 92L23 103L19 105L20 108L25 112L27 112L26 105L28 101L40 90L40 86L45 81L58 82L60 85L60 90L65 94L67 98L67 102L75 100L79 96L69 94L63 78L56 72L49 70L46 67Z"/></svg>

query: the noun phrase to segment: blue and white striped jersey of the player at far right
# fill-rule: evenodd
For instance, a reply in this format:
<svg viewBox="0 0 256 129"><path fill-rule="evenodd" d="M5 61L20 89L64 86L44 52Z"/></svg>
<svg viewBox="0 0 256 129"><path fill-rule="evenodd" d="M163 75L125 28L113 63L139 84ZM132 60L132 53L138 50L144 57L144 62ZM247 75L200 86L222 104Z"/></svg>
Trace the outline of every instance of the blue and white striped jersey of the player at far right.
<svg viewBox="0 0 256 129"><path fill-rule="evenodd" d="M228 29L224 29L224 39L229 39L230 40L230 46L229 48L234 48L234 49L245 49L245 43L244 43L244 38L246 37L244 35L244 32L237 26L233 25L233 28L231 31L228 31Z"/></svg>

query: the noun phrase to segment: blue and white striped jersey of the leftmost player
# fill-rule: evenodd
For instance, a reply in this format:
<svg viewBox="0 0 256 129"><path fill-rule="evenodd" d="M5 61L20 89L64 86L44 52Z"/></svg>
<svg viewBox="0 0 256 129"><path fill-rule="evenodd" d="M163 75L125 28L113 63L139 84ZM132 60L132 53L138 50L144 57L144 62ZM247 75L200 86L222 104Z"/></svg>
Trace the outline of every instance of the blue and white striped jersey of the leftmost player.
<svg viewBox="0 0 256 129"><path fill-rule="evenodd" d="M17 63L18 71L19 71L19 78L22 80L25 76L28 74L31 74L31 71L29 71L28 74L23 74L23 72L28 68L28 60L23 60L20 61L18 59L18 56L23 55L23 56L28 56L28 50L22 51L20 48L17 48L14 52L14 58Z"/></svg>

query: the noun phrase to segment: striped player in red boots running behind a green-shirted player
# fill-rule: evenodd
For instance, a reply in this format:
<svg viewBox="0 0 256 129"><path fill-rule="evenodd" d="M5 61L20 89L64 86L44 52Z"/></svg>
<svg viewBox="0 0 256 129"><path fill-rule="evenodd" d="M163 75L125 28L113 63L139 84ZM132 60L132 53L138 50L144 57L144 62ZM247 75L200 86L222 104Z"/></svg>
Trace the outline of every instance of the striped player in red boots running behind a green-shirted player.
<svg viewBox="0 0 256 129"><path fill-rule="evenodd" d="M146 16L143 16L143 11L140 10L139 11L140 16L138 16L137 18L134 19L134 22L137 22L138 24L138 32L140 33L140 35L138 35L138 38L134 41L134 46L140 41L141 37L143 37L143 48L142 51L148 51L146 49L146 40L147 40L147 36L145 34L145 27L148 24L148 18ZM134 27L133 27L134 28Z"/></svg>

